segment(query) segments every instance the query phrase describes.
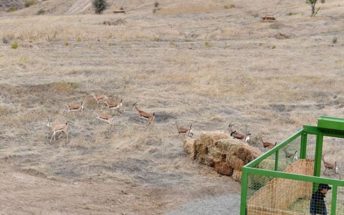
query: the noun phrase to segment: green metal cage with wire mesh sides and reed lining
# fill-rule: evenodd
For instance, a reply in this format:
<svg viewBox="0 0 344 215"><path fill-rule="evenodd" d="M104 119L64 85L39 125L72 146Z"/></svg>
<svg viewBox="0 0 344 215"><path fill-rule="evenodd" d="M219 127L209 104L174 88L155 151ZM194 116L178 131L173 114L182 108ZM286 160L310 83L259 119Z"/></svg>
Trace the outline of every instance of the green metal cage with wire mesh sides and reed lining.
<svg viewBox="0 0 344 215"><path fill-rule="evenodd" d="M344 119L321 116L242 168L240 215L310 214L310 199L320 183L328 214L344 215L344 181L323 167L323 139L344 138ZM325 171L328 175L324 177ZM330 171L330 172L329 172ZM323 176L321 176L323 175Z"/></svg>

